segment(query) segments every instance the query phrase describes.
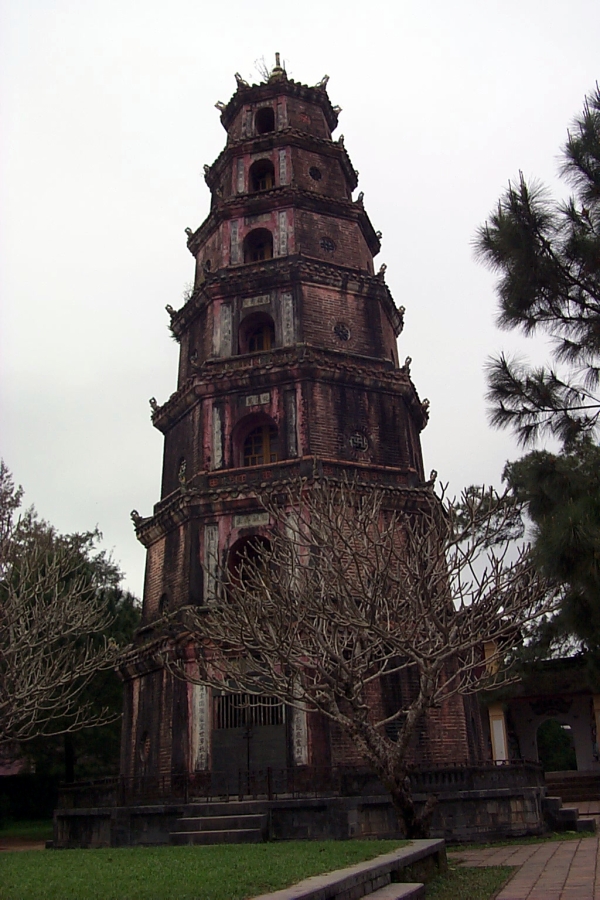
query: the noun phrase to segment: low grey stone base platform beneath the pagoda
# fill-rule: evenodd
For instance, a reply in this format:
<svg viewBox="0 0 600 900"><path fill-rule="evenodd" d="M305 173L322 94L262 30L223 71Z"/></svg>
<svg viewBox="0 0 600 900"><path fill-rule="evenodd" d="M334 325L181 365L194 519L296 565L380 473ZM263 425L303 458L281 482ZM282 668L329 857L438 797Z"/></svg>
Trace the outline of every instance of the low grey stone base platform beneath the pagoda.
<svg viewBox="0 0 600 900"><path fill-rule="evenodd" d="M543 792L539 786L441 791L431 835L448 841L482 841L541 834L546 828ZM417 794L415 799L424 801L425 795ZM229 832L247 831L240 827L246 817L260 822L260 836L253 838L260 840L401 837L391 802L385 794L376 794L58 809L54 814L54 847L123 847L184 840L202 843L201 839L181 837L182 831L192 834L182 822L196 820L193 832L202 831L198 819L209 820L206 824L211 843L233 842L235 836ZM215 827L215 821L226 820L237 820L236 828ZM222 840L214 834L219 828Z"/></svg>

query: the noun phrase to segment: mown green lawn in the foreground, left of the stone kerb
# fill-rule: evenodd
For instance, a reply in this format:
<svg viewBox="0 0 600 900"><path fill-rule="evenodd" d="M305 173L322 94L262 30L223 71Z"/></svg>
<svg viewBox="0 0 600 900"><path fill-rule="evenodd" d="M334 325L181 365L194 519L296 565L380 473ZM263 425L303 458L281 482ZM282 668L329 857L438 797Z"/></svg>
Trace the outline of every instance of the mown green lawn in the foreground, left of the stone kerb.
<svg viewBox="0 0 600 900"><path fill-rule="evenodd" d="M0 900L243 900L399 845L285 841L4 853Z"/></svg>

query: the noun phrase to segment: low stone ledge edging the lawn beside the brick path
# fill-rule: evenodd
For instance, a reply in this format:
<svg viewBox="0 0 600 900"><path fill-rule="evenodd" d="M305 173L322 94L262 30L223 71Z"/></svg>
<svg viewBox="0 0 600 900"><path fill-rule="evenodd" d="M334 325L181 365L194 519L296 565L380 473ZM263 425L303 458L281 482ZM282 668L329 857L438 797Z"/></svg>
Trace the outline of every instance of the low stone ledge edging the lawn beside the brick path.
<svg viewBox="0 0 600 900"><path fill-rule="evenodd" d="M337 872L312 875L292 887L261 894L254 900L345 900L364 897L390 884L392 873L412 869L427 859L431 859L437 870L445 870L446 846L443 840L412 841L408 847L338 869Z"/></svg>

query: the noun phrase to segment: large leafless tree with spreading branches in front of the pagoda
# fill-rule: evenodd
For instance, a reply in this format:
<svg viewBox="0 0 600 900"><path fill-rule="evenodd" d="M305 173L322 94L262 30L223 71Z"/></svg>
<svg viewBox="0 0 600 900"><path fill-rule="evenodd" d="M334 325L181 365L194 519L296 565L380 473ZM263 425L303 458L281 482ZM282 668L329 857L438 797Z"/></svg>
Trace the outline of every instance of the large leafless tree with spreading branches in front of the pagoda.
<svg viewBox="0 0 600 900"><path fill-rule="evenodd" d="M268 533L222 573L220 602L189 610L164 660L327 716L389 791L404 833L426 835L435 798L418 810L408 777L420 720L511 678L508 647L555 607L527 549L498 543L512 504L494 491L457 505L432 486L407 495L326 479L261 500ZM378 715L377 683L406 669L412 696Z"/></svg>

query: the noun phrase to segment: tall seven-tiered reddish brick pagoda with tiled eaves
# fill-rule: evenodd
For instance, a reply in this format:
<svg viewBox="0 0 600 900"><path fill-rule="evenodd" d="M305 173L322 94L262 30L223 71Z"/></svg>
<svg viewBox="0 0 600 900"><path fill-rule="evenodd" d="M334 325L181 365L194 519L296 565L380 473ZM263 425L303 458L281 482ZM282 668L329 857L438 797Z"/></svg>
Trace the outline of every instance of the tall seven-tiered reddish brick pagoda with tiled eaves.
<svg viewBox="0 0 600 900"><path fill-rule="evenodd" d="M268 534L256 490L318 469L406 494L423 484L427 423L398 364L403 308L375 272L380 250L326 81L277 65L239 76L218 104L227 143L205 167L210 212L187 229L193 292L171 315L177 390L152 420L165 436L161 499L132 514L147 548L143 622L124 666L122 774L224 772L358 762L316 715L274 704L249 728L236 695L173 679L154 650L186 606L210 604L220 566ZM422 763L466 763L480 739L460 698L434 711Z"/></svg>

